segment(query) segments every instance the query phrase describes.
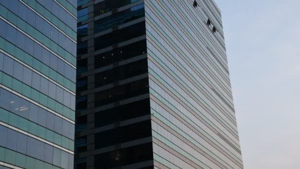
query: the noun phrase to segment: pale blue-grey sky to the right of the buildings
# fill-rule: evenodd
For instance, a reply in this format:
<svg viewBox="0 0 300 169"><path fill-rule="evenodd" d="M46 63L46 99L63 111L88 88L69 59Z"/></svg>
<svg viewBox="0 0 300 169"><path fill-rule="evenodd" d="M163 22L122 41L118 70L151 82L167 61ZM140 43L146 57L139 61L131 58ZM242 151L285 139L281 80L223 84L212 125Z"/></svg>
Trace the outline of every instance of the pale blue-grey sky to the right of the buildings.
<svg viewBox="0 0 300 169"><path fill-rule="evenodd" d="M245 169L300 169L300 0L215 0Z"/></svg>

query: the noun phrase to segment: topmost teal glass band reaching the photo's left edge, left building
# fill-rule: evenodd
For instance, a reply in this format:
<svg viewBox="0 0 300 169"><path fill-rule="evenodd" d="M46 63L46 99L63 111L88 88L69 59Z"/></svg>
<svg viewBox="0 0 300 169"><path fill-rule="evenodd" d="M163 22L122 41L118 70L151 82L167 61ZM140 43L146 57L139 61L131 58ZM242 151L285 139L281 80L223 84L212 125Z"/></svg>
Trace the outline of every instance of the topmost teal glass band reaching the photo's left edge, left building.
<svg viewBox="0 0 300 169"><path fill-rule="evenodd" d="M20 3L19 10L15 13L9 11L11 9L7 10L2 5L0 5L0 8L2 10L2 17L8 19L9 22L28 33L39 42L44 43L47 47L50 47L50 45L48 45L50 42L56 43L62 47L62 51L67 50L65 52L72 53L73 56L75 56L75 43L32 10L28 9L23 3ZM27 14L27 12L30 14Z"/></svg>

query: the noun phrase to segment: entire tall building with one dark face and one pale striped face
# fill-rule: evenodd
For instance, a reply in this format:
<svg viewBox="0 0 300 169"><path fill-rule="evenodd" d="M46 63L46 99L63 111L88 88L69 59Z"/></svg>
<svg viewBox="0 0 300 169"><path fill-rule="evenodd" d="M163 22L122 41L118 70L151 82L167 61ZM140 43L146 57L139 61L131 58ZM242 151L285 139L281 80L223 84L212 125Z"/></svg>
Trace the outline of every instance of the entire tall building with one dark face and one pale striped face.
<svg viewBox="0 0 300 169"><path fill-rule="evenodd" d="M75 169L243 169L213 0L78 5Z"/></svg>

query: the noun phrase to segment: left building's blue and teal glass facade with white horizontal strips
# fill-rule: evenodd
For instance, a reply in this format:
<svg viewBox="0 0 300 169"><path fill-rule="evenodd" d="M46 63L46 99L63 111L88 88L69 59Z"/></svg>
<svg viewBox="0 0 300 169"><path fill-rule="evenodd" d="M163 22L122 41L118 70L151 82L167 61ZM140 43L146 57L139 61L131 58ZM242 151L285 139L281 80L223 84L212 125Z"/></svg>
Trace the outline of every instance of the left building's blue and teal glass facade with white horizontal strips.
<svg viewBox="0 0 300 169"><path fill-rule="evenodd" d="M73 169L76 0L0 0L0 169Z"/></svg>

